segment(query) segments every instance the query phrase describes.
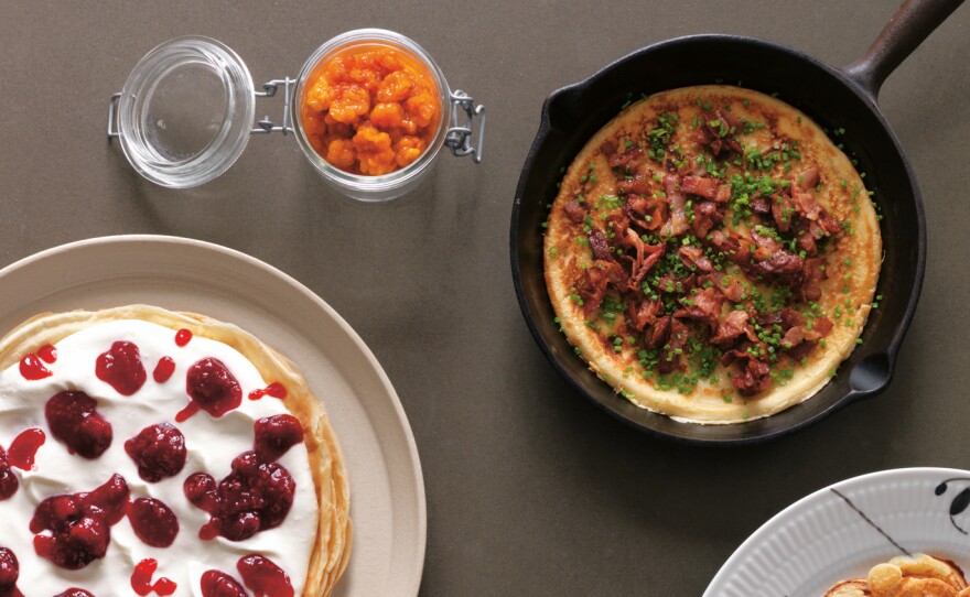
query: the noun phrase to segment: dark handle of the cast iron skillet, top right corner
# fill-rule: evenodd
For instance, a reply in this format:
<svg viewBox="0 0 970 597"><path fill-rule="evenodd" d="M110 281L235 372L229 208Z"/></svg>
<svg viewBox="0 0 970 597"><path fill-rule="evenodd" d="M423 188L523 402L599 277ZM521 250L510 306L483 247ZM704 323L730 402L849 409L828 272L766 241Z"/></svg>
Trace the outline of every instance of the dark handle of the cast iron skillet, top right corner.
<svg viewBox="0 0 970 597"><path fill-rule="evenodd" d="M875 104L890 74L962 3L963 0L906 0L869 51L842 70Z"/></svg>

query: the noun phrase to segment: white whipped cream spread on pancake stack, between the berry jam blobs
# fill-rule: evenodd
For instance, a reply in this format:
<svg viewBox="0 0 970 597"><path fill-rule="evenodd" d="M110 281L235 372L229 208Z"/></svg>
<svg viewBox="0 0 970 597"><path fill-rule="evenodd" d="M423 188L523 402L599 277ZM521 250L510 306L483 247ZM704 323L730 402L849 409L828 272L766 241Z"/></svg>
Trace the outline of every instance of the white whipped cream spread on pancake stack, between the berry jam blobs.
<svg viewBox="0 0 970 597"><path fill-rule="evenodd" d="M148 372L144 386L130 397L119 394L95 373L98 356L118 340L138 346ZM12 469L20 479L20 489L10 499L0 501L0 546L17 554L20 562L17 584L24 595L50 597L68 587L84 588L96 597L136 595L130 584L136 565L144 558L154 558L159 563L154 578L163 576L177 583L174 595L201 597L203 573L214 568L238 579L236 563L248 554L270 558L289 574L295 595L303 594L319 515L304 444L293 446L278 459L290 471L297 489L287 519L274 529L244 541L222 536L203 541L198 530L208 522L209 515L192 506L183 492L183 481L193 473L208 473L216 481L226 477L233 459L252 449L256 420L288 412L276 398L255 401L246 398L276 380L262 379L246 357L223 343L196 336L180 347L175 343L175 330L140 321L88 327L62 339L56 349L56 361L45 363L52 373L47 378L26 380L18 363L0 372L0 445L9 447L10 442L29 427L40 427L46 434L33 470ZM166 381L158 383L151 372L162 357L171 357L175 369ZM205 357L223 361L236 377L242 389L242 403L219 419L200 411L187 421L176 423L175 414L188 403L186 371ZM100 457L88 460L69 454L47 427L44 405L64 390L79 390L96 399L98 412L114 427L111 445ZM139 476L137 465L125 452L125 442L142 428L162 422L175 425L185 436L187 459L179 475L150 484ZM90 491L116 473L125 477L132 500L155 498L172 509L180 527L174 543L164 549L146 545L126 518L111 528L106 556L82 569L64 569L37 556L34 534L29 528L37 504L51 496Z"/></svg>

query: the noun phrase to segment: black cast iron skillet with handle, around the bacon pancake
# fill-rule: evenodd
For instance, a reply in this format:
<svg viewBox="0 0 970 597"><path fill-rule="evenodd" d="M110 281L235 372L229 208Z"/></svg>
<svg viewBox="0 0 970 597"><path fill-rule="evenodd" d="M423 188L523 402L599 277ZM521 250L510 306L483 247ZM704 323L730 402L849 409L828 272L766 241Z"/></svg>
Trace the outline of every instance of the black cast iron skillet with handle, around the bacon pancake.
<svg viewBox="0 0 970 597"><path fill-rule="evenodd" d="M886 388L896 352L913 318L926 265L923 198L909 162L876 106L890 73L962 0L907 0L869 52L843 69L797 50L733 35L692 35L650 45L606 66L589 79L553 93L542 107L539 132L526 158L511 214L511 268L516 293L536 341L559 372L594 404L643 431L700 444L743 444L805 427ZM818 394L773 416L737 425L678 423L634 406L573 355L553 322L542 267L541 222L556 185L583 144L630 97L689 85L724 82L798 107L820 126L845 129L843 142L859 160L882 214L885 258L879 308L869 317L863 344ZM940 123L942 126L942 123Z"/></svg>

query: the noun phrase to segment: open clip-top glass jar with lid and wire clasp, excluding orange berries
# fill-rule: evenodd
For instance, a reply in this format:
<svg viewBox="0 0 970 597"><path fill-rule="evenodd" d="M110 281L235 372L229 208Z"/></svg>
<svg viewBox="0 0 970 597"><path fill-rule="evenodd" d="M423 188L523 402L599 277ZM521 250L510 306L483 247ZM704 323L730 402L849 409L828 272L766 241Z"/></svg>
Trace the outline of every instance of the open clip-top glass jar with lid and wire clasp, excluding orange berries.
<svg viewBox="0 0 970 597"><path fill-rule="evenodd" d="M432 140L413 162L388 174L353 174L332 165L313 148L301 107L308 86L327 61L338 53L375 47L399 52L430 74L440 113ZM392 31L362 29L337 35L306 58L295 79L274 79L262 89L256 91L246 64L228 46L209 37L176 37L146 54L122 90L111 96L108 137L118 138L129 163L149 181L188 188L228 170L250 135L292 134L330 186L366 202L392 199L414 188L432 170L442 146L454 155L471 155L475 163L482 161L485 107L461 90L452 91L434 58ZM280 90L281 123L266 117L254 127L256 99L276 97Z"/></svg>

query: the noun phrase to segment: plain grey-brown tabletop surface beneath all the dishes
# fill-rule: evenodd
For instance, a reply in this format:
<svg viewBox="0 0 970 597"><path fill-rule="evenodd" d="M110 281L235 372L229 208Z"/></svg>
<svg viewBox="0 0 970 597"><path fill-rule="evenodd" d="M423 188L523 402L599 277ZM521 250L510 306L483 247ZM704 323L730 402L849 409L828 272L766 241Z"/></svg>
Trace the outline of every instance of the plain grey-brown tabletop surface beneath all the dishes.
<svg viewBox="0 0 970 597"><path fill-rule="evenodd" d="M576 394L532 341L507 247L542 100L690 33L754 35L847 64L896 6L3 2L0 262L96 236L176 235L247 252L320 294L375 352L410 417L428 492L422 595L699 595L748 534L816 489L885 468L970 467L970 9L881 94L929 230L895 381L768 445L642 435ZM292 139L252 139L235 167L194 191L142 181L105 139L108 96L164 40L216 37L261 83L295 75L317 45L362 26L413 37L453 87L487 105L483 164L443 155L421 192L368 206L324 187Z"/></svg>

